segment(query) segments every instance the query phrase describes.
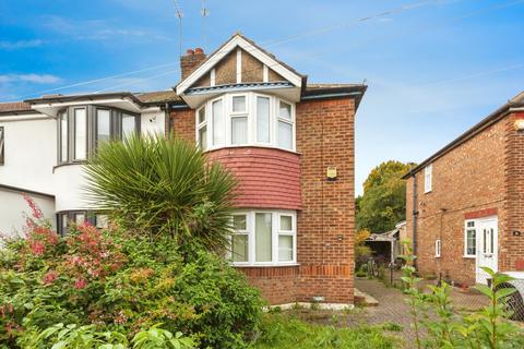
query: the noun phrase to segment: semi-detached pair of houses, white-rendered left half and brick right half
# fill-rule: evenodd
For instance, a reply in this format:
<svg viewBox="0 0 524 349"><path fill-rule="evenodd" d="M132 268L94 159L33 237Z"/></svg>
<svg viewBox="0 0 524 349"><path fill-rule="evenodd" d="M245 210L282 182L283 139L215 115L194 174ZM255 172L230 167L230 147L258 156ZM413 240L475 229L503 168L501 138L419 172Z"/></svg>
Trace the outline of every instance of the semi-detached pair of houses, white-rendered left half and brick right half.
<svg viewBox="0 0 524 349"><path fill-rule="evenodd" d="M240 34L210 56L188 50L180 64L171 91L0 104L0 201L12 203L9 217L24 191L41 196L60 231L71 220L102 227L103 213L80 200L84 145L128 132L171 132L239 180L228 257L270 303L352 304L354 123L366 86L308 84ZM35 128L46 130L35 135L41 142L15 156L16 136ZM45 168L34 177L32 160ZM0 230L13 226L7 217Z"/></svg>

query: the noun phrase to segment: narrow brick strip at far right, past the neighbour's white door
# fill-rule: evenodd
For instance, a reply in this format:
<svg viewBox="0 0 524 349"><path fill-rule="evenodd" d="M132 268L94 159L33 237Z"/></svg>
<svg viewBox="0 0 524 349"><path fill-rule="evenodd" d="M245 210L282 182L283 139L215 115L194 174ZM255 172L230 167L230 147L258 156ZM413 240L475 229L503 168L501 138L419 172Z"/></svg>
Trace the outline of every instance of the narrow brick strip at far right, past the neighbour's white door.
<svg viewBox="0 0 524 349"><path fill-rule="evenodd" d="M510 115L504 122L507 130L505 154L505 231L499 231L499 269L504 272L524 272L524 132L514 128L517 119L524 119L524 112ZM521 231L521 236L513 236Z"/></svg>

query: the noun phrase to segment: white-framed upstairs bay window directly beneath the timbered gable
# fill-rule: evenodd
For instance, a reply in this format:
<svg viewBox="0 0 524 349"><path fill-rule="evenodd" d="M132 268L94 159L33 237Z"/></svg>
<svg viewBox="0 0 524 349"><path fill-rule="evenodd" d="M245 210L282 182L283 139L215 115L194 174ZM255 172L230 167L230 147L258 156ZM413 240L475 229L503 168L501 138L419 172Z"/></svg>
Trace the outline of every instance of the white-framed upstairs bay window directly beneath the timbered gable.
<svg viewBox="0 0 524 349"><path fill-rule="evenodd" d="M204 104L195 118L203 151L242 145L295 151L295 106L274 96L227 94Z"/></svg>

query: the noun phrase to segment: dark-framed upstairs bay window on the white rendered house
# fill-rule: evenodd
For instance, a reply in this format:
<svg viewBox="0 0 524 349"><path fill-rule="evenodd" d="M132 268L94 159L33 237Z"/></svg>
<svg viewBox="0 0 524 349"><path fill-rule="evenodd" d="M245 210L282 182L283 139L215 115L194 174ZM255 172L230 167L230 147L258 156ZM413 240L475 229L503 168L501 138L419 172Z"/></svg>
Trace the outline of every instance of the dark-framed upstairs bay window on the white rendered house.
<svg viewBox="0 0 524 349"><path fill-rule="evenodd" d="M85 161L102 142L139 132L140 118L96 106L70 107L58 115L58 163Z"/></svg>

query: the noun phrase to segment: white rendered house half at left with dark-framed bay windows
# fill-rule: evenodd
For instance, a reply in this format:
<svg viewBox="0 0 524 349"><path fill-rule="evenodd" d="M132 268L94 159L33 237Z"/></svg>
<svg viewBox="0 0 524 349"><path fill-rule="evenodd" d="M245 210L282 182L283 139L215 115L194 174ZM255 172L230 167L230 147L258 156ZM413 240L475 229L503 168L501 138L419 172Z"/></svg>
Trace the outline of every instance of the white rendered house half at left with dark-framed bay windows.
<svg viewBox="0 0 524 349"><path fill-rule="evenodd" d="M45 96L0 104L0 232L20 233L28 194L63 232L69 221L106 224L82 192L82 165L96 145L132 132L166 131L170 92ZM153 101L152 101L153 100Z"/></svg>

